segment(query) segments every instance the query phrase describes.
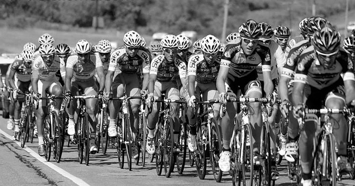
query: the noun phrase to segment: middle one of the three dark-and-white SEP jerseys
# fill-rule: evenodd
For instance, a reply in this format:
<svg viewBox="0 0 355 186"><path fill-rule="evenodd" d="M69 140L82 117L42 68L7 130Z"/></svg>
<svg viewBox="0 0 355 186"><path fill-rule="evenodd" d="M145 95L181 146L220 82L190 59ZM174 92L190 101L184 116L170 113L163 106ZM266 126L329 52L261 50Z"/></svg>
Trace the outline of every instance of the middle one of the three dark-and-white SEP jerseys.
<svg viewBox="0 0 355 186"><path fill-rule="evenodd" d="M175 58L172 63L168 63L164 55L156 56L152 60L149 74L157 75L158 81L172 81L179 75L180 78L186 77L186 64L179 58Z"/></svg>

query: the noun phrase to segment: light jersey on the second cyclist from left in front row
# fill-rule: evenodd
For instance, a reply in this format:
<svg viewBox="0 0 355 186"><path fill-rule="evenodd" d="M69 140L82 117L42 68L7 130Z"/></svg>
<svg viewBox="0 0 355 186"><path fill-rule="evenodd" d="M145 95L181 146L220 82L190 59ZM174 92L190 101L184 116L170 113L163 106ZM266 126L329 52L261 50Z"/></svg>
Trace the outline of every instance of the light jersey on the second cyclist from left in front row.
<svg viewBox="0 0 355 186"><path fill-rule="evenodd" d="M64 60L54 55L53 62L47 65L42 57L39 55L32 62L32 77L39 78L41 80L47 80L51 78L57 78L55 74L60 70L62 76L65 73Z"/></svg>

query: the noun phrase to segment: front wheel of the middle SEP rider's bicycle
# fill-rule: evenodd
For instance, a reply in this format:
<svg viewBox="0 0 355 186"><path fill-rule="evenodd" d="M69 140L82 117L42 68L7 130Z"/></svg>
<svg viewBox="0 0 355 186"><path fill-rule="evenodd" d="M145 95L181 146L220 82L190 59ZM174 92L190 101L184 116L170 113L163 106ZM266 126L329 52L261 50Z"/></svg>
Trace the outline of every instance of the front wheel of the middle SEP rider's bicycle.
<svg viewBox="0 0 355 186"><path fill-rule="evenodd" d="M165 117L164 122L164 172L165 177L170 177L174 170L174 123L171 117Z"/></svg>

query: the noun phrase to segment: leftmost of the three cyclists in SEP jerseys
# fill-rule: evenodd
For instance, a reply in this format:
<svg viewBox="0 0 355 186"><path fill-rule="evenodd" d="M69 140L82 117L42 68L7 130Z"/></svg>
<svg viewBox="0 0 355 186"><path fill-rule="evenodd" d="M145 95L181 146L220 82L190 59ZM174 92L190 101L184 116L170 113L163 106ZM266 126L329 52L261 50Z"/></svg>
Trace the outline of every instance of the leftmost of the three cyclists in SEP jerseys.
<svg viewBox="0 0 355 186"><path fill-rule="evenodd" d="M141 48L141 36L133 30L124 34L123 43L123 47L116 49L111 54L109 71L105 80L105 98L110 97L111 91L116 98L124 96L125 93L128 97L133 97L146 95L147 92L151 60L150 54L146 52L145 49ZM118 74L114 78L114 81L112 81L116 67L118 67L122 73ZM140 72L142 72L144 76L142 85L140 85ZM116 108L120 108L120 106L121 102L118 100L109 103L110 124L108 132L111 137L117 136L117 133L121 135L121 126L117 128L116 125L118 113ZM129 118L134 142L139 124L139 106L139 99L130 100ZM138 157L137 148L135 146L132 146L132 156L133 158Z"/></svg>

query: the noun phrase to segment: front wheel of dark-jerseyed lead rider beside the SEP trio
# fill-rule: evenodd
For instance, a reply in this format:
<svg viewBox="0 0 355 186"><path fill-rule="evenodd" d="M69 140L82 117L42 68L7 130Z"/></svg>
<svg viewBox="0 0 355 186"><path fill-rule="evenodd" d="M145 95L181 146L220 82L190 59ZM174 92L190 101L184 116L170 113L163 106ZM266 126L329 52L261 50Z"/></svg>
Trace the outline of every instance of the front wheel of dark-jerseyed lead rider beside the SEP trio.
<svg viewBox="0 0 355 186"><path fill-rule="evenodd" d="M240 167L238 185L252 186L253 182L255 182L255 185L260 185L260 182L258 181L260 180L260 177L255 175L255 173L258 173L259 171L255 172L254 170L252 128L250 124L244 124L243 132L244 133L242 133L240 139L242 147L239 152L239 159L241 159L241 162L238 161L238 167Z"/></svg>

